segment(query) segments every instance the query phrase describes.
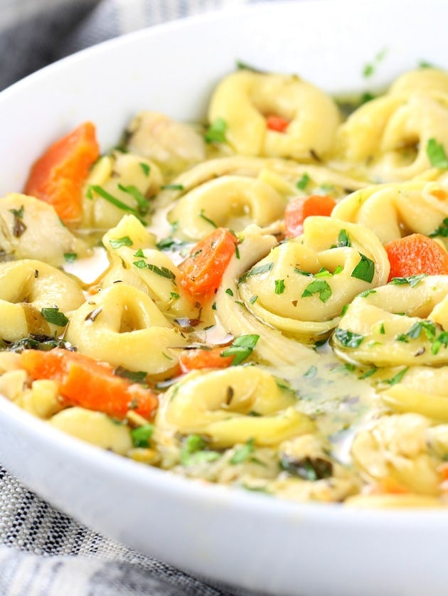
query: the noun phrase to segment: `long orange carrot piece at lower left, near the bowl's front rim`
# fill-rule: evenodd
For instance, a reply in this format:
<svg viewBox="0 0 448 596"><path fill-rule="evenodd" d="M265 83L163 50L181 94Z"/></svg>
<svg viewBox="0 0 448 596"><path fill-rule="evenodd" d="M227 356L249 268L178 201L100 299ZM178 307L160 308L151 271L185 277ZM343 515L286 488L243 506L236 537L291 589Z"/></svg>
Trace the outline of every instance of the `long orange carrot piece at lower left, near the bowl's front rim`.
<svg viewBox="0 0 448 596"><path fill-rule="evenodd" d="M117 418L123 418L128 410L149 418L158 405L150 389L114 375L110 364L77 352L60 348L23 350L21 366L33 379L59 381L65 405L79 405Z"/></svg>

